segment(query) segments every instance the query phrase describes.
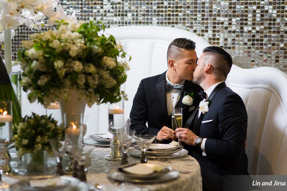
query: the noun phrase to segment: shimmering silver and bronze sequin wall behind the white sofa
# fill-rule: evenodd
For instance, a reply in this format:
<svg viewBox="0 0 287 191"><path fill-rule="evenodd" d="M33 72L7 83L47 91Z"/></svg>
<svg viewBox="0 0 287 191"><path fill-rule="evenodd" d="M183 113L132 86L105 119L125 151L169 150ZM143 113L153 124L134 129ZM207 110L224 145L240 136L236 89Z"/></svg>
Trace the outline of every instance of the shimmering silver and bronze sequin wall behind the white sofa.
<svg viewBox="0 0 287 191"><path fill-rule="evenodd" d="M160 25L189 30L223 47L236 65L276 67L287 73L287 1L285 0L63 0L80 20L108 27ZM13 50L30 30L21 27Z"/></svg>

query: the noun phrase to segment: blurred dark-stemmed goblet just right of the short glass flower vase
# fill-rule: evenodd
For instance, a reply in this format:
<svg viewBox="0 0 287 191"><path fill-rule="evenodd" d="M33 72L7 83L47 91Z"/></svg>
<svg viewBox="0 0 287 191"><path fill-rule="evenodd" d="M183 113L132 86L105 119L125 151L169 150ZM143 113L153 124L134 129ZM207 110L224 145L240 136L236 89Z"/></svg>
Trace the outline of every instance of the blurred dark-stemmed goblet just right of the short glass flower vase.
<svg viewBox="0 0 287 191"><path fill-rule="evenodd" d="M56 139L56 138L49 139L49 143L57 159L57 174L60 176L64 175L64 172L62 169L62 158L65 155L69 142L70 142L70 138L68 138L68 136L66 136L64 141L60 141L59 139Z"/></svg>

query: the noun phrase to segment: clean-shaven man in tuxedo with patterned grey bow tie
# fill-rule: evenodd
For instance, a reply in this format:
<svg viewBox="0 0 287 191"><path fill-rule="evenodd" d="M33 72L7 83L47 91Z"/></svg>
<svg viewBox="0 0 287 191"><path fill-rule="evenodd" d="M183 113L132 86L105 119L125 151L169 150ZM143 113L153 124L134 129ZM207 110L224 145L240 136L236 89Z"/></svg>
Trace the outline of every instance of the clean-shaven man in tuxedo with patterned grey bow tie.
<svg viewBox="0 0 287 191"><path fill-rule="evenodd" d="M171 129L172 109L183 108L184 127L192 113L190 107L197 107L200 101L198 92L202 89L191 82L197 60L195 42L176 38L170 43L167 71L142 79L135 94L130 118L131 129L136 130L136 134L156 135L156 139L163 143L177 139L175 131ZM194 92L192 105L182 103L184 92Z"/></svg>

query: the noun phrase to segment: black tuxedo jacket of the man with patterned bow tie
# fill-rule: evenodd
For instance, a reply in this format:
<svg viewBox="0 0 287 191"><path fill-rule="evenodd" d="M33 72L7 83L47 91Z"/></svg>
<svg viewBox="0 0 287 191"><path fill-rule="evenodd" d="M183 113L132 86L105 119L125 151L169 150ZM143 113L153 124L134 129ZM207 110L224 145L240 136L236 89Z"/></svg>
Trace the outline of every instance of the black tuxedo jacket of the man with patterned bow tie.
<svg viewBox="0 0 287 191"><path fill-rule="evenodd" d="M141 80L138 91L132 104L130 113L131 129L136 130L136 134L157 135L163 126L171 128L171 115L167 113L166 99L166 72L145 78ZM182 98L185 91L188 93L194 92L193 105L197 107L201 101L198 92L202 90L200 86L194 85L191 81L185 80L184 91L178 100L175 108L183 108L184 127L187 119L193 111L188 111L191 106L182 104ZM146 122L148 127L146 126ZM163 143L167 141L163 141Z"/></svg>

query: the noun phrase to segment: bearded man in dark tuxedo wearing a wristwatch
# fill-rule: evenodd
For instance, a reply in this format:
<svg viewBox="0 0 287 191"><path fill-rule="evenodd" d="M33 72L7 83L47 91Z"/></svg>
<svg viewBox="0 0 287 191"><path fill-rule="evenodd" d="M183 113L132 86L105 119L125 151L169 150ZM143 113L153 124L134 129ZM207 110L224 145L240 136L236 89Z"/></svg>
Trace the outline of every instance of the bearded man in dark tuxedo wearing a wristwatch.
<svg viewBox="0 0 287 191"><path fill-rule="evenodd" d="M185 128L175 130L180 141L192 146L203 190L223 190L224 175L248 175L247 112L240 96L224 82L231 66L232 58L222 48L203 50L193 74L193 83L204 89L202 101Z"/></svg>

